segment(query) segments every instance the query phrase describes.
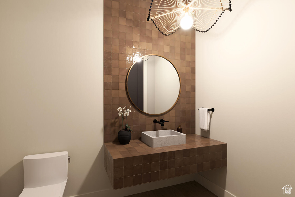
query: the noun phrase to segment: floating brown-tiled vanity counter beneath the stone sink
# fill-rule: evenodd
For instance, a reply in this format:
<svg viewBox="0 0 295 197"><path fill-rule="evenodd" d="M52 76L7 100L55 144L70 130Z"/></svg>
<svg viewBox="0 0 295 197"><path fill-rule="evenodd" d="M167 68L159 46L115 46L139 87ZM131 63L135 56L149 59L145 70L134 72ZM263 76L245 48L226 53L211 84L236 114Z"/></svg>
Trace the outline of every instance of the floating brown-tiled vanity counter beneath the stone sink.
<svg viewBox="0 0 295 197"><path fill-rule="evenodd" d="M104 167L114 189L227 166L227 144L196 134L186 144L152 148L140 140L104 144Z"/></svg>

